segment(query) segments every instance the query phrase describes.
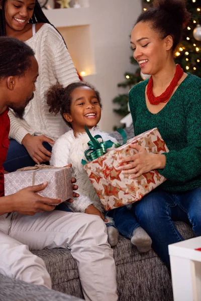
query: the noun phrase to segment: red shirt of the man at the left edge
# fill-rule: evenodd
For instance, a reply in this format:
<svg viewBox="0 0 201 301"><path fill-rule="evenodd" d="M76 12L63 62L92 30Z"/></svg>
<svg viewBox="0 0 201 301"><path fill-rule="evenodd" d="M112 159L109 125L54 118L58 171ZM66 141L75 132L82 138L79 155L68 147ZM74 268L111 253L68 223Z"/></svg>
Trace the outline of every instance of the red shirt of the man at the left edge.
<svg viewBox="0 0 201 301"><path fill-rule="evenodd" d="M4 196L4 167L9 148L9 109L0 115L0 197Z"/></svg>

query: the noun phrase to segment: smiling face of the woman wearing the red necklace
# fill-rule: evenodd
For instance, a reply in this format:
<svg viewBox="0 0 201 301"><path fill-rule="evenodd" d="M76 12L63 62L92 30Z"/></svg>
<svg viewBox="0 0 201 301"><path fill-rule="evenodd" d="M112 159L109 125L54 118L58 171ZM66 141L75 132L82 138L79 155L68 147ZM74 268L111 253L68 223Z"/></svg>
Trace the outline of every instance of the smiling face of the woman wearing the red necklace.
<svg viewBox="0 0 201 301"><path fill-rule="evenodd" d="M170 36L161 39L149 22L136 24L131 33L131 45L133 57L143 74L154 75L165 66L168 56L172 56L170 40Z"/></svg>

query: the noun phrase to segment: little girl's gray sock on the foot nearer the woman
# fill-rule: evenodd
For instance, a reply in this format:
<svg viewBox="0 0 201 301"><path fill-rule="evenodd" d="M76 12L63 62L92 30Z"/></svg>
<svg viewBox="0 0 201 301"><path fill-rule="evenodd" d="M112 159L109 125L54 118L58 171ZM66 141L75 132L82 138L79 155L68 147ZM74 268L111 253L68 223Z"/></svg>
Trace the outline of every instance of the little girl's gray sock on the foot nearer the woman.
<svg viewBox="0 0 201 301"><path fill-rule="evenodd" d="M133 231L131 243L138 248L139 252L144 253L151 249L152 240L142 227L137 227Z"/></svg>

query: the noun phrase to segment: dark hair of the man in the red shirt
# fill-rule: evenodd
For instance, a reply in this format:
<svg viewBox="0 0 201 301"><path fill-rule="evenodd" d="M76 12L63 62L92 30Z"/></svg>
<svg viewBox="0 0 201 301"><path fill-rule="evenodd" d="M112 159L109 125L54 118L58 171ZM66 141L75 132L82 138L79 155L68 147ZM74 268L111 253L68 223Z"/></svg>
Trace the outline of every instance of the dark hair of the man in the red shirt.
<svg viewBox="0 0 201 301"><path fill-rule="evenodd" d="M7 76L23 76L31 67L34 51L15 38L0 37L0 79Z"/></svg>

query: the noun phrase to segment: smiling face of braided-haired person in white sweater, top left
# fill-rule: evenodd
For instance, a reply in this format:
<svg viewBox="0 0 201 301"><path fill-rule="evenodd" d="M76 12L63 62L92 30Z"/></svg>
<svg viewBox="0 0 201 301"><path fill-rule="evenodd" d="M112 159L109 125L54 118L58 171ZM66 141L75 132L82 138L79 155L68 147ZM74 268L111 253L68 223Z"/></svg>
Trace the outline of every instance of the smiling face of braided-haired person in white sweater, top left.
<svg viewBox="0 0 201 301"><path fill-rule="evenodd" d="M5 3L6 26L22 31L34 13L35 0L7 0Z"/></svg>

